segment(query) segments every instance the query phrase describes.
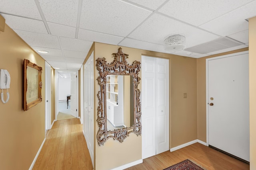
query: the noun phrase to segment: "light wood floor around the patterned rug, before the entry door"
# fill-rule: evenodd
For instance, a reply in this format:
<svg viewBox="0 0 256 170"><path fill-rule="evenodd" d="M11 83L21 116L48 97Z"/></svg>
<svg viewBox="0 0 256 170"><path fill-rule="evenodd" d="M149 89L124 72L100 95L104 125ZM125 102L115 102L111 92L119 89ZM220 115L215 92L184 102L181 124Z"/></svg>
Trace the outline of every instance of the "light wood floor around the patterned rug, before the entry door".
<svg viewBox="0 0 256 170"><path fill-rule="evenodd" d="M146 158L142 164L126 170L163 170L183 160L190 159L208 170L249 170L249 165L222 152L195 143L174 152L166 151Z"/></svg>

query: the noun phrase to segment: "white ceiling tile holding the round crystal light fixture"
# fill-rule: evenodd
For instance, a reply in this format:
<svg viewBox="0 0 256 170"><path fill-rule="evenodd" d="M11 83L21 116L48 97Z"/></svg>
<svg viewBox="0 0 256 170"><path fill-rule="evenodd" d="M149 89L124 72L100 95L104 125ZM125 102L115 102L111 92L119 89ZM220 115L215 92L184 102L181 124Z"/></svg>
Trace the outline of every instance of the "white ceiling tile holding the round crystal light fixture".
<svg viewBox="0 0 256 170"><path fill-rule="evenodd" d="M129 37L163 45L165 38L177 33L186 37L186 47L192 47L219 38L212 33L172 20L160 14L153 14L132 32Z"/></svg>

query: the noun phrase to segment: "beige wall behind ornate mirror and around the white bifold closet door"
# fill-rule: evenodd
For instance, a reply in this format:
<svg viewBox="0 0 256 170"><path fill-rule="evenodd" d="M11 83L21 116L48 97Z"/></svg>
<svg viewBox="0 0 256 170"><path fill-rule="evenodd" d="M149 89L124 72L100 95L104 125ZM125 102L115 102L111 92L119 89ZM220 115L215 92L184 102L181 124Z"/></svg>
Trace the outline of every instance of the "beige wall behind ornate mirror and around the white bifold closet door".
<svg viewBox="0 0 256 170"><path fill-rule="evenodd" d="M117 53L119 47L95 43L95 60L105 57L107 63L112 62L112 53ZM135 60L141 62L141 55L170 59L170 148L197 139L196 59L128 47L122 47L122 51L129 55L128 63ZM95 68L95 96L100 90L96 80L98 76L98 70ZM141 73L139 76L141 77ZM141 90L141 81L138 89ZM183 98L183 93L187 93L188 97ZM98 98L95 98L94 103L96 137ZM104 146L100 147L95 141L94 147L95 170L109 170L142 158L141 136L137 137L133 133L123 143L108 139Z"/></svg>

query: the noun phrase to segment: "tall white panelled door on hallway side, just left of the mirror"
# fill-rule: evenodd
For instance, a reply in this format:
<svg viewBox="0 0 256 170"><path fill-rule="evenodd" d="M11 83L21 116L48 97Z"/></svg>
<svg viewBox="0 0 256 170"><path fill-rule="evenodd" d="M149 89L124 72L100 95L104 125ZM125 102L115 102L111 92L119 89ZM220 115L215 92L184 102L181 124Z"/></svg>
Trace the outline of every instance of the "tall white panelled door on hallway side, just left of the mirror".
<svg viewBox="0 0 256 170"><path fill-rule="evenodd" d="M84 64L84 137L94 162L94 57L93 53Z"/></svg>

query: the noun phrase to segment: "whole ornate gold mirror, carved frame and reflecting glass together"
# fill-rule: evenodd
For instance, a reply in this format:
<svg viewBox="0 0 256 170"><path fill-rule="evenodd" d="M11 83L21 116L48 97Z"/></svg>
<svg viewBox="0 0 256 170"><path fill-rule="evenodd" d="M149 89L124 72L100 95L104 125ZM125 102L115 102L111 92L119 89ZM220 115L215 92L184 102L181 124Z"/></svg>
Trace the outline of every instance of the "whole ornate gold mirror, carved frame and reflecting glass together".
<svg viewBox="0 0 256 170"><path fill-rule="evenodd" d="M98 84L98 145L113 138L123 142L130 133L141 135L141 106L140 106L140 62L127 63L127 54L118 49L113 53L114 61L106 63L105 58L96 60Z"/></svg>

